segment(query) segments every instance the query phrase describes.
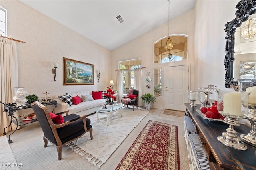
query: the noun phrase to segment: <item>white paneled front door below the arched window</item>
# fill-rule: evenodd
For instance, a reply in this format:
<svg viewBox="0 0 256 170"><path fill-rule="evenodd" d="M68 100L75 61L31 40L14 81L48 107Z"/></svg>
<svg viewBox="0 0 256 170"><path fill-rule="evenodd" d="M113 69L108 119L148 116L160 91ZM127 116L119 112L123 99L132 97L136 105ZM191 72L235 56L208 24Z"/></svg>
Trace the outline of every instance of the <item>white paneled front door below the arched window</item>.
<svg viewBox="0 0 256 170"><path fill-rule="evenodd" d="M165 109L185 111L187 91L188 65L165 67Z"/></svg>

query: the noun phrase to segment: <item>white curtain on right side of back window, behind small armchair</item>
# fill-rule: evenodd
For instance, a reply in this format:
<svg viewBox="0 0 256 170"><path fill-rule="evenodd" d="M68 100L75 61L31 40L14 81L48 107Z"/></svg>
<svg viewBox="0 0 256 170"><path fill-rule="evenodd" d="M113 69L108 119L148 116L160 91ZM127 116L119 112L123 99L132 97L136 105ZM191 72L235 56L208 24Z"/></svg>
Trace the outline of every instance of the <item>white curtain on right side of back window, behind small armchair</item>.
<svg viewBox="0 0 256 170"><path fill-rule="evenodd" d="M138 106L143 106L142 99L142 69L134 69L134 89L139 91Z"/></svg>

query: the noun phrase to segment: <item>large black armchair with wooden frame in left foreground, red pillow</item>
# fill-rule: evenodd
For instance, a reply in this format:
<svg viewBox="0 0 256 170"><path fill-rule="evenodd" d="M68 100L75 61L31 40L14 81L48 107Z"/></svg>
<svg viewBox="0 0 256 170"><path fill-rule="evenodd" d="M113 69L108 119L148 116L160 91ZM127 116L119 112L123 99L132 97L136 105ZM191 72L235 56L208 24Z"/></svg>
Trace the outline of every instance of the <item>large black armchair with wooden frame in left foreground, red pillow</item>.
<svg viewBox="0 0 256 170"><path fill-rule="evenodd" d="M86 132L90 132L90 137L93 139L91 120L86 118L87 115L68 115L69 111L56 114L49 113L46 107L38 101L31 103L31 106L44 132L44 147L47 146L48 141L56 146L58 160L61 160L61 152L65 144L80 138ZM62 117L61 114L64 113L66 116Z"/></svg>

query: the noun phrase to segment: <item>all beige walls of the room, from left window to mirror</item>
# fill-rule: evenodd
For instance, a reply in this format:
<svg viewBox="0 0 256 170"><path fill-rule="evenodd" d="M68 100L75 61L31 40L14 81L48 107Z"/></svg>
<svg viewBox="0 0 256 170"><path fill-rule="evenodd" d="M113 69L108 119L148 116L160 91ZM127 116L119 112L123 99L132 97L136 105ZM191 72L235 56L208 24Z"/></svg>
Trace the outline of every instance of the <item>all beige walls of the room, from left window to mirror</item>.
<svg viewBox="0 0 256 170"><path fill-rule="evenodd" d="M103 90L110 79L116 83L115 70L118 69L118 61L137 58L141 58L142 67L152 70L162 68L163 87L165 67L189 65L191 90L197 90L201 84L214 84L224 89L224 25L234 19L237 3L238 0L196 1L193 10L171 20L170 34L188 35L188 60L162 64L153 64L153 44L167 36L168 22L109 51L22 2L1 0L0 5L8 10L8 36L27 42L16 43L19 63L18 85L24 87L28 93L35 93L41 97L40 94L45 91L56 95L81 90ZM95 81L94 86L63 86L62 57L94 64L96 71L102 70L100 83ZM107 67L110 60L111 67ZM53 81L52 61L60 62L56 82ZM142 93L153 93L154 88L146 88L146 76L143 70ZM153 78L153 71L150 77ZM157 98L154 107L164 108L164 95Z"/></svg>

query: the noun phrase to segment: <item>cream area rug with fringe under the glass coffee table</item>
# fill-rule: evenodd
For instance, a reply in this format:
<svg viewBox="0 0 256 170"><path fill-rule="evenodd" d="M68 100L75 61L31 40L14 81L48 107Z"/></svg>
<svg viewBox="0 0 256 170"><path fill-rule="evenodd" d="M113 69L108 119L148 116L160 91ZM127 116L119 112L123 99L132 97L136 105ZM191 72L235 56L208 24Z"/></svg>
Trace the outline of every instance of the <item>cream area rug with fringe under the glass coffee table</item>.
<svg viewBox="0 0 256 170"><path fill-rule="evenodd" d="M100 168L149 112L140 109L131 111L129 108L122 108L116 113L118 114L121 111L123 116L112 117L109 126L106 124L106 119L97 122L97 114L88 116L91 119L94 139L91 140L89 133L86 133L70 144L70 148L80 156L84 156L88 162ZM99 115L99 118L105 116Z"/></svg>

